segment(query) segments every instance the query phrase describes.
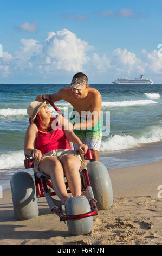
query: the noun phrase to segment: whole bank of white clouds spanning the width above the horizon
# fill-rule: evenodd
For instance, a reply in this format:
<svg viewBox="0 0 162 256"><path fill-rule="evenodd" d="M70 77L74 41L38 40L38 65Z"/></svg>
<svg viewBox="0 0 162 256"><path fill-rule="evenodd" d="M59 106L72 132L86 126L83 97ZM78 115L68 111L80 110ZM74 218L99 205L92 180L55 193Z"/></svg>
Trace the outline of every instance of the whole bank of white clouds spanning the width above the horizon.
<svg viewBox="0 0 162 256"><path fill-rule="evenodd" d="M81 40L68 29L49 32L44 41L21 38L21 47L12 55L3 52L0 58L0 74L3 77L17 74L45 77L73 72L101 74L112 77L162 74L162 57L158 51L142 50L142 57L134 52L117 48L111 54L100 56L88 42ZM92 52L93 50L93 52ZM91 51L91 52L90 52ZM92 53L92 54L90 54ZM94 72L95 70L95 72Z"/></svg>

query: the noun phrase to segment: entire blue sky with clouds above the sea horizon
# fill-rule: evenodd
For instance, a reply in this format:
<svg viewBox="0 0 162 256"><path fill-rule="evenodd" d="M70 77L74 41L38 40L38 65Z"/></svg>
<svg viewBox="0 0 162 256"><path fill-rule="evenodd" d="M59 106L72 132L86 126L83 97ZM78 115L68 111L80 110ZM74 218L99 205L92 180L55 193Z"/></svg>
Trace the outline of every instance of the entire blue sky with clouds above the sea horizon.
<svg viewBox="0 0 162 256"><path fill-rule="evenodd" d="M159 0L1 0L0 84L162 84ZM2 54L1 54L2 47ZM2 56L2 57L1 57Z"/></svg>

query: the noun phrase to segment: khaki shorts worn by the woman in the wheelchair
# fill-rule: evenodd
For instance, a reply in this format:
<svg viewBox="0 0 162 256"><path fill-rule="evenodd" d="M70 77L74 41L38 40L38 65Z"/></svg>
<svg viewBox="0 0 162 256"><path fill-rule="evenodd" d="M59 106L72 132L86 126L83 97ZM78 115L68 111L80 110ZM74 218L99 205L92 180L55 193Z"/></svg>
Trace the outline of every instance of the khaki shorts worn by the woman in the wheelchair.
<svg viewBox="0 0 162 256"><path fill-rule="evenodd" d="M33 168L34 172L35 173L39 172L38 166L44 158L46 158L46 157L56 157L60 161L61 157L65 156L65 155L76 156L80 159L82 165L85 165L85 163L83 162L82 156L77 151L69 150L69 149L56 149L56 150L50 151L46 154L43 154L40 161L34 161L34 168Z"/></svg>

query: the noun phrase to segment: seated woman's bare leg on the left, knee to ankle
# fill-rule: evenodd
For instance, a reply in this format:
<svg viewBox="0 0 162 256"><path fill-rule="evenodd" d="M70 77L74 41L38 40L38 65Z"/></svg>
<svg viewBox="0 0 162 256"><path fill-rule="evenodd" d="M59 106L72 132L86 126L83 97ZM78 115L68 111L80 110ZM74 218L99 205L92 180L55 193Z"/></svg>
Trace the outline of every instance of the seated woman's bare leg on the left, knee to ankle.
<svg viewBox="0 0 162 256"><path fill-rule="evenodd" d="M63 204L68 198L68 194L60 161L56 157L46 157L40 162L39 170L50 176L54 191L61 199L61 204Z"/></svg>

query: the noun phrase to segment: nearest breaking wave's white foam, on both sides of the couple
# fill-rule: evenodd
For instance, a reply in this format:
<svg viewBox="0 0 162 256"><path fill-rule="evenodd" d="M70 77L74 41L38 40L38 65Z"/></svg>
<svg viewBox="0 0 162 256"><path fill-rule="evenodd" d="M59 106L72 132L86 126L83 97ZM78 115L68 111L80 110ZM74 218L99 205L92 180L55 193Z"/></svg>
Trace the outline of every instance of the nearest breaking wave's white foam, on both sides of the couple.
<svg viewBox="0 0 162 256"><path fill-rule="evenodd" d="M158 142L162 140L162 127L149 126L131 135L113 135L102 141L100 151L115 151L138 147L141 144ZM0 169L24 167L24 152L9 151L0 154Z"/></svg>

